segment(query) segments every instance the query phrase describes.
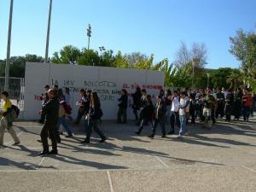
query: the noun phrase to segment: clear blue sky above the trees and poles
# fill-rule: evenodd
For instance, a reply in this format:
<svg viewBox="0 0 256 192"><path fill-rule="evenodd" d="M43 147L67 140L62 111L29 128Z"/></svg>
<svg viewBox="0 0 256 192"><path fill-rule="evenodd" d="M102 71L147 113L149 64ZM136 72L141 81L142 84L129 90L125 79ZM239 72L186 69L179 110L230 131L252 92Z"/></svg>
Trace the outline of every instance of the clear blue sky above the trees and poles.
<svg viewBox="0 0 256 192"><path fill-rule="evenodd" d="M10 0L0 0L0 59L6 58ZM255 31L255 0L53 0L49 56L67 44L175 61L181 42L207 46L207 68L239 67L230 37ZM14 0L11 55L44 56L49 0Z"/></svg>

